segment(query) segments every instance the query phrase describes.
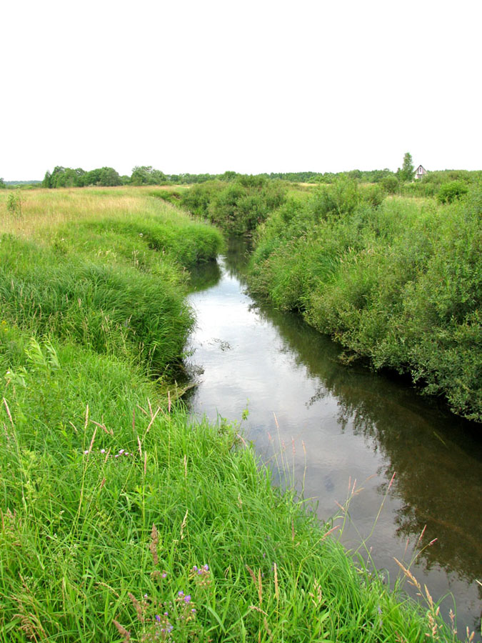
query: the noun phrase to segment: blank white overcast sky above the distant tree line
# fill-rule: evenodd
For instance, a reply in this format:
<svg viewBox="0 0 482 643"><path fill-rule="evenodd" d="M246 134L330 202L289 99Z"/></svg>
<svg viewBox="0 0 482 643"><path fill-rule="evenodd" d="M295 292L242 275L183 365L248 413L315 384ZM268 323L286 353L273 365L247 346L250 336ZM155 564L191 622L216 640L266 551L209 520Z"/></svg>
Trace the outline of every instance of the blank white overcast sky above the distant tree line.
<svg viewBox="0 0 482 643"><path fill-rule="evenodd" d="M1 9L0 176L482 169L476 0Z"/></svg>

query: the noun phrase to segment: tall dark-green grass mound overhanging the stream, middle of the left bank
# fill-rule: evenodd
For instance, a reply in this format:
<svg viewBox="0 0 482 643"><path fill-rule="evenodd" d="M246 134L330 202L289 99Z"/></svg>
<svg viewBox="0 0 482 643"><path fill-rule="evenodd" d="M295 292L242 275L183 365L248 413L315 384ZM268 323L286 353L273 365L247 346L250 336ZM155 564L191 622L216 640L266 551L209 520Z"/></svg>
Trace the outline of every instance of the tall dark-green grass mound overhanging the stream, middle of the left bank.
<svg viewBox="0 0 482 643"><path fill-rule="evenodd" d="M164 280L4 236L2 314L31 334L79 342L100 353L141 359L162 374L179 362L194 318L179 279Z"/></svg>

